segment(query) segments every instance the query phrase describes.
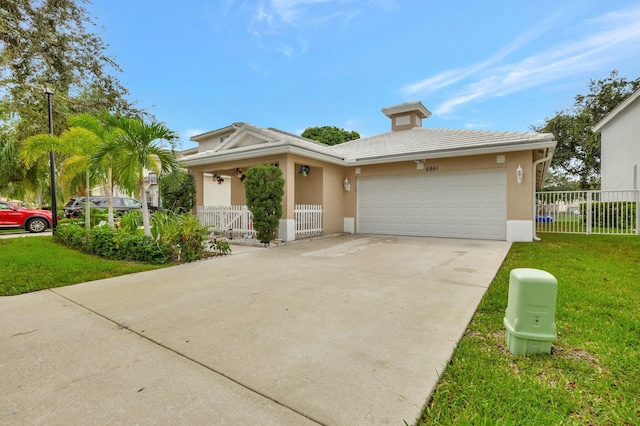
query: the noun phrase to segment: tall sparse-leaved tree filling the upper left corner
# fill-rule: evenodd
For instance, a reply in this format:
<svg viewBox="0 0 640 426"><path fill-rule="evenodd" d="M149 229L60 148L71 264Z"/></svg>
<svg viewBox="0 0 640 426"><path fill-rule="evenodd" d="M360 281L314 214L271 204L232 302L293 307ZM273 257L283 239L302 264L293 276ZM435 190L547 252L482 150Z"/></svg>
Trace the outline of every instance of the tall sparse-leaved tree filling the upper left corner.
<svg viewBox="0 0 640 426"><path fill-rule="evenodd" d="M33 186L37 173L14 155L21 141L47 132L44 88L54 90L54 130L69 115L109 109L139 114L127 90L110 74L118 65L87 30L94 22L88 0L0 0L0 189Z"/></svg>

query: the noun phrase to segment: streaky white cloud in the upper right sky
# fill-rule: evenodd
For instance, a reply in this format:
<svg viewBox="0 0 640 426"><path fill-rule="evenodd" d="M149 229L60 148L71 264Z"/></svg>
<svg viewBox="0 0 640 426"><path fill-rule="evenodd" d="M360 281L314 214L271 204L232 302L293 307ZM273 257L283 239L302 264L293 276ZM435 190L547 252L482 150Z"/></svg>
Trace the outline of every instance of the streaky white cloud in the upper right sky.
<svg viewBox="0 0 640 426"><path fill-rule="evenodd" d="M402 87L401 93L413 98L468 81L454 91L451 99L434 108L434 114L442 115L472 101L504 96L595 70L605 61L615 63L612 57L640 53L640 6L607 13L584 25L586 28L582 30L587 35L582 39L551 46L521 61L504 63L509 54L546 31L547 23L523 34L482 63L443 71Z"/></svg>

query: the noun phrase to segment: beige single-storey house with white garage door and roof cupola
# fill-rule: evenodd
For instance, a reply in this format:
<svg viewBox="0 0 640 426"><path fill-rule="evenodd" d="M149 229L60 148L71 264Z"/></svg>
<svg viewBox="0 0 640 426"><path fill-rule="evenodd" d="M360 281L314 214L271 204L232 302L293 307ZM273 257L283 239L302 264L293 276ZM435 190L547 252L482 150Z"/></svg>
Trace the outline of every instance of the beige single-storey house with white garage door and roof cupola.
<svg viewBox="0 0 640 426"><path fill-rule="evenodd" d="M196 204L207 199L207 175L231 176L230 204L245 204L242 172L275 164L285 179L285 241L296 238L298 204L322 206L325 234L533 240L553 135L423 128L431 113L420 102L382 112L390 132L336 146L245 123L194 136L198 152L182 162Z"/></svg>

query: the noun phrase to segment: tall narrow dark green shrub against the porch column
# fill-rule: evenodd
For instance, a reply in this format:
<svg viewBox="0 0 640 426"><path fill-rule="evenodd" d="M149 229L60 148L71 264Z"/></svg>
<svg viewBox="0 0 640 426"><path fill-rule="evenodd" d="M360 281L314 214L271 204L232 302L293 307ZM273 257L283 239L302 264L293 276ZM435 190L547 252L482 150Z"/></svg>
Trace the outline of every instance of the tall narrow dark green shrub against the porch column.
<svg viewBox="0 0 640 426"><path fill-rule="evenodd" d="M244 179L247 207L253 214L253 227L262 243L278 236L282 217L284 179L282 171L271 165L258 165L247 170Z"/></svg>

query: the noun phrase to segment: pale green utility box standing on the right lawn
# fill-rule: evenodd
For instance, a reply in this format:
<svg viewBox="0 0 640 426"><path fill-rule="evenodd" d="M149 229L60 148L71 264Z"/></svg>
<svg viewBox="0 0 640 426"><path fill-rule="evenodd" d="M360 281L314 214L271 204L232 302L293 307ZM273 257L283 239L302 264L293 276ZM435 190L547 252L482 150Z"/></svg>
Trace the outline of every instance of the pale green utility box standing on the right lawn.
<svg viewBox="0 0 640 426"><path fill-rule="evenodd" d="M513 269L504 316L507 348L514 355L551 353L556 340L558 280L539 269Z"/></svg>

